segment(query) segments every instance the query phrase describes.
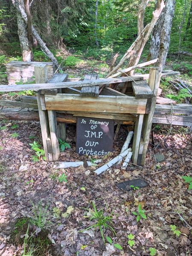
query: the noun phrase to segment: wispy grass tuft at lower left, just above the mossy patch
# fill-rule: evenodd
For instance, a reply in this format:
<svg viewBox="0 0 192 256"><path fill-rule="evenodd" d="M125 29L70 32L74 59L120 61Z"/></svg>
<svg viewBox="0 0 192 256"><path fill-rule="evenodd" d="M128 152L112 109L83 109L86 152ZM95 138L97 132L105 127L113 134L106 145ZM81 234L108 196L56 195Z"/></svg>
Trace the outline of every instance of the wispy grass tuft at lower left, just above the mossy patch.
<svg viewBox="0 0 192 256"><path fill-rule="evenodd" d="M48 211L48 205L43 207L42 201L35 205L32 201L32 214L29 218L29 222L40 228L42 231L49 230L52 226L52 221L50 221L51 215Z"/></svg>

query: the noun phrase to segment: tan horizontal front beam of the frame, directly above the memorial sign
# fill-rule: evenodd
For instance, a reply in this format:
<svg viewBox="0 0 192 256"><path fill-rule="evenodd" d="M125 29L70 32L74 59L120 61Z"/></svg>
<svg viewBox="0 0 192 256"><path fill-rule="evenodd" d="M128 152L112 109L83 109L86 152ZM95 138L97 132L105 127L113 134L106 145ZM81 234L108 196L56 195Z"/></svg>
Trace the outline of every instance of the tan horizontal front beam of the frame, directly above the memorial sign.
<svg viewBox="0 0 192 256"><path fill-rule="evenodd" d="M99 96L82 98L73 94L46 95L45 105L47 110L68 110L87 112L116 112L116 113L145 113L147 99L137 100L129 96Z"/></svg>

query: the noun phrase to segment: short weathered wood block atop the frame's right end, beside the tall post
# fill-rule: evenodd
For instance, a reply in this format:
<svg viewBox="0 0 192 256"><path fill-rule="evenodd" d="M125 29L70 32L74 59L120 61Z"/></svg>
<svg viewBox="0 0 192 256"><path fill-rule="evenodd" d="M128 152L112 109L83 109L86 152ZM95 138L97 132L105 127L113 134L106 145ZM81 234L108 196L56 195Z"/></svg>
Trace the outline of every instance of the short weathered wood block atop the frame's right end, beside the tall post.
<svg viewBox="0 0 192 256"><path fill-rule="evenodd" d="M137 83L132 81L131 85L136 99L151 99L154 97L146 81L137 81Z"/></svg>

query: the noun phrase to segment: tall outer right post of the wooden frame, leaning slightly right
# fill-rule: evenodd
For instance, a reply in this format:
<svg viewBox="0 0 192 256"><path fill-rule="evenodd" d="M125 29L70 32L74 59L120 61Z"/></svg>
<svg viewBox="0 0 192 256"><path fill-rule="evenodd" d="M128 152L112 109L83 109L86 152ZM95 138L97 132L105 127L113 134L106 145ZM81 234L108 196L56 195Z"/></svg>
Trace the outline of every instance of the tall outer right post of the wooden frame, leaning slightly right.
<svg viewBox="0 0 192 256"><path fill-rule="evenodd" d="M143 143L141 143L140 147L143 147L143 154L141 158L141 164L145 164L145 157L147 154L148 143L151 133L151 125L155 110L156 98L157 98L157 91L160 84L160 77L161 77L161 68L159 67L151 67L149 72L148 78L148 85L151 88L151 91L154 93L154 96L151 99L151 110L148 114L145 114L144 121L143 121Z"/></svg>

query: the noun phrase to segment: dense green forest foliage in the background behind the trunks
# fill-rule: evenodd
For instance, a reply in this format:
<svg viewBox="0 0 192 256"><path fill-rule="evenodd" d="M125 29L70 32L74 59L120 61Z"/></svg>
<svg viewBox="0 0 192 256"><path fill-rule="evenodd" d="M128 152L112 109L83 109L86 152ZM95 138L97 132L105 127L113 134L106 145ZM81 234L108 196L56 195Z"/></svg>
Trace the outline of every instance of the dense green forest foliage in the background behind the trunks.
<svg viewBox="0 0 192 256"><path fill-rule="evenodd" d="M1 53L19 54L17 13L14 0L0 0ZM32 0L32 24L47 46L93 53L125 52L137 37L140 0ZM145 9L144 25L150 22L154 0ZM192 2L176 0L170 52L192 51ZM148 45L149 46L149 45Z"/></svg>

